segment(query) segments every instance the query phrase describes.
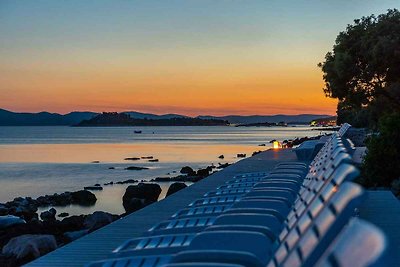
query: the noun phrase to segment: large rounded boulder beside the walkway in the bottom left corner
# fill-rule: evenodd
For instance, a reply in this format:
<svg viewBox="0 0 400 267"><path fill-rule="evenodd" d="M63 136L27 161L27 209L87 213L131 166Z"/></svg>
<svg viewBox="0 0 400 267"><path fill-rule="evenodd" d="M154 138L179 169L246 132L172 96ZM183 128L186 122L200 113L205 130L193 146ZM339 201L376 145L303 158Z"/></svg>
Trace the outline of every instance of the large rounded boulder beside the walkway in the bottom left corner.
<svg viewBox="0 0 400 267"><path fill-rule="evenodd" d="M18 260L36 259L57 248L53 235L21 235L11 239L2 253Z"/></svg>

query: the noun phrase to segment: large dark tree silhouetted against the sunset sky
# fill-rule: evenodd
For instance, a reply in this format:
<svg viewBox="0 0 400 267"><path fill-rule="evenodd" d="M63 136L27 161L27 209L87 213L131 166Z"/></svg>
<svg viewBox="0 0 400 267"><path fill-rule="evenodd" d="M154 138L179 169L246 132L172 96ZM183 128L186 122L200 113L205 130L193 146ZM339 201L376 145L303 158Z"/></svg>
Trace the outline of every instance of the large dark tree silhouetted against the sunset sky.
<svg viewBox="0 0 400 267"><path fill-rule="evenodd" d="M325 95L339 100L338 123L375 127L400 111L400 12L355 20L318 66Z"/></svg>

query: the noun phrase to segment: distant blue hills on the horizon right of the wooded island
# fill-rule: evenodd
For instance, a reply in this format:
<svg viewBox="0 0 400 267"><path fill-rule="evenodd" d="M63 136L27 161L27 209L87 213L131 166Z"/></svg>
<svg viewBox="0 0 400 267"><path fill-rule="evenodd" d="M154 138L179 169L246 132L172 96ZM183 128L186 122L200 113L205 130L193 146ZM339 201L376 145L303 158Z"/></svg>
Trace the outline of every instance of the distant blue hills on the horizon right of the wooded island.
<svg viewBox="0 0 400 267"><path fill-rule="evenodd" d="M220 119L227 120L232 124L251 124L251 123L279 123L288 124L309 124L312 120L326 118L329 115L318 114L299 114L299 115L251 115L251 116L198 116L200 119Z"/></svg>

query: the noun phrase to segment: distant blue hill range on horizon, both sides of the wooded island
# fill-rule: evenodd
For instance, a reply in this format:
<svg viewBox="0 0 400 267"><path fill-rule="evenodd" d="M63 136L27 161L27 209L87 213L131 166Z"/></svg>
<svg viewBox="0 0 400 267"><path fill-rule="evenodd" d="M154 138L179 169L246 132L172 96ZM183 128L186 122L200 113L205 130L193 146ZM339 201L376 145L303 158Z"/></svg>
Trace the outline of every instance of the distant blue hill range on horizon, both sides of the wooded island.
<svg viewBox="0 0 400 267"><path fill-rule="evenodd" d="M320 114L299 114L299 115L228 115L228 116L197 116L189 117L180 114L151 114L137 111L121 112L129 115L133 119L141 120L169 120L175 118L201 119L201 120L223 120L233 125L252 124L252 123L279 123L287 124L309 124L313 120L330 117L330 115ZM0 109L0 126L71 126L90 120L100 113L91 111L74 111L67 114L50 112L12 112Z"/></svg>

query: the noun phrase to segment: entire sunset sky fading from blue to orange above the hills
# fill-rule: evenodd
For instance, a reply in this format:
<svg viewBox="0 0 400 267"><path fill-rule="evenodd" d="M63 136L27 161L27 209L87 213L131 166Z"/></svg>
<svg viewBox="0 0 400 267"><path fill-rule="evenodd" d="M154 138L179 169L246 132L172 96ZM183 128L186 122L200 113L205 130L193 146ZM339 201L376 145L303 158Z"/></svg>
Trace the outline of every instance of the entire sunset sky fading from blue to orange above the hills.
<svg viewBox="0 0 400 267"><path fill-rule="evenodd" d="M398 0L0 1L0 108L335 114L317 63Z"/></svg>

